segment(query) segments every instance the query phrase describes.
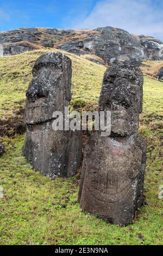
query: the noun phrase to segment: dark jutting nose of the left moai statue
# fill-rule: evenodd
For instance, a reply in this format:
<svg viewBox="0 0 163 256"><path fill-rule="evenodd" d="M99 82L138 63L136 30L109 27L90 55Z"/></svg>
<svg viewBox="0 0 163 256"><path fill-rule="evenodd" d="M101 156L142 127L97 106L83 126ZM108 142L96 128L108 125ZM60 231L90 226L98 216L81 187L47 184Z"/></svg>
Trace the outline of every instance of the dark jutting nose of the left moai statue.
<svg viewBox="0 0 163 256"><path fill-rule="evenodd" d="M39 83L34 83L27 90L26 96L30 102L35 102L37 99L41 97L46 97L48 94L48 90L46 87L42 87Z"/></svg>

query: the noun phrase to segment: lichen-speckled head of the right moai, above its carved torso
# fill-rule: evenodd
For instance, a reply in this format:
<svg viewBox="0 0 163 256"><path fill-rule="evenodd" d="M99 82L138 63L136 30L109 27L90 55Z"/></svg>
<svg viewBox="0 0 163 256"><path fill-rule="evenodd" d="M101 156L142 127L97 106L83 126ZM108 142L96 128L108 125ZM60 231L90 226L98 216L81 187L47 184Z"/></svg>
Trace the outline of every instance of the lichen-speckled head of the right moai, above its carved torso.
<svg viewBox="0 0 163 256"><path fill-rule="evenodd" d="M105 71L99 111L111 111L111 136L130 136L137 132L142 94L140 68L122 63Z"/></svg>

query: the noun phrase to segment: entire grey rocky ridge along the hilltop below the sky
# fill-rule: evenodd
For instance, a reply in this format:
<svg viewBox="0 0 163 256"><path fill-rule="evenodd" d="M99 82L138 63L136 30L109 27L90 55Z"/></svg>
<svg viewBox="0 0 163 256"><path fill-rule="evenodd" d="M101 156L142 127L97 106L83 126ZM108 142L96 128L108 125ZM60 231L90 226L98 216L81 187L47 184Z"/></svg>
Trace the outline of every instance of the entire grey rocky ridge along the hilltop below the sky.
<svg viewBox="0 0 163 256"><path fill-rule="evenodd" d="M102 27L97 29L21 28L0 33L4 55L18 54L39 47L60 48L74 54L94 54L105 64L115 60L145 57L163 59L163 43L155 38L133 34L123 29Z"/></svg>

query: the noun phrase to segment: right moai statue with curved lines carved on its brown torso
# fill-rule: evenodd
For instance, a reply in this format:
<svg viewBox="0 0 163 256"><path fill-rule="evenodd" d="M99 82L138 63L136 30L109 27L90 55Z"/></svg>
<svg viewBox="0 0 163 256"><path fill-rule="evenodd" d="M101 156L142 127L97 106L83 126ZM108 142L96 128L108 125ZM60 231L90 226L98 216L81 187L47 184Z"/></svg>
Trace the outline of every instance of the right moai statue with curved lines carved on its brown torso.
<svg viewBox="0 0 163 256"><path fill-rule="evenodd" d="M106 70L99 111L111 112L111 133L94 133L85 148L79 203L112 224L131 223L143 203L146 143L137 135L142 87L143 75L135 66Z"/></svg>

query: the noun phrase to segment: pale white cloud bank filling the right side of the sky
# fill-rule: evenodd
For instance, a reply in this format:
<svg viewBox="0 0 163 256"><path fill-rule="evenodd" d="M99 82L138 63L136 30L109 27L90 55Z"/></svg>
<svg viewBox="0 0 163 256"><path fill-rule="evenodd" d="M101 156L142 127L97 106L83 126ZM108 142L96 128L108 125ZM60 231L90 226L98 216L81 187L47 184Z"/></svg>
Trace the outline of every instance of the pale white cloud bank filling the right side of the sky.
<svg viewBox="0 0 163 256"><path fill-rule="evenodd" d="M99 0L76 28L118 27L163 40L163 3L158 0Z"/></svg>

